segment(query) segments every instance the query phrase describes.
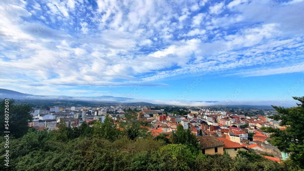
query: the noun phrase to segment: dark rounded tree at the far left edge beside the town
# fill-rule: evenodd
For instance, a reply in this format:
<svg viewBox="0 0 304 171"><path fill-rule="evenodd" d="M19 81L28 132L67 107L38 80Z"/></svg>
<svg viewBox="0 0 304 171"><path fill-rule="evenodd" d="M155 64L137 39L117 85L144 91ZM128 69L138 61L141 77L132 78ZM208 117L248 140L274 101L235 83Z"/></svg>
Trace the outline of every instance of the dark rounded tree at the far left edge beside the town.
<svg viewBox="0 0 304 171"><path fill-rule="evenodd" d="M29 129L28 123L33 120L30 114L31 107L29 104L16 105L15 100L2 100L0 102L0 124L1 136L4 136L4 131L10 131L10 138L20 138L26 134ZM6 113L7 111L8 113ZM9 129L6 130L4 125L8 125Z"/></svg>

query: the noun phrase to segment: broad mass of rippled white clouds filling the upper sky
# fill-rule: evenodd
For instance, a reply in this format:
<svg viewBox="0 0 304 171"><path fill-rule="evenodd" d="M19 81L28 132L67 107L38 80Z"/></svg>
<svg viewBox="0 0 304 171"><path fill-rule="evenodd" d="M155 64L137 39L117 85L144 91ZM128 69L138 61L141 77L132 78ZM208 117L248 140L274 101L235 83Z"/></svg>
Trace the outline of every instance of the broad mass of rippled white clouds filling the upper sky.
<svg viewBox="0 0 304 171"><path fill-rule="evenodd" d="M244 68L265 62L268 74L279 74L279 68L302 72L303 3L269 12L264 2L245 2L233 1L226 11L224 2L205 0L98 0L98 9L72 0L41 1L33 8L0 4L0 74L8 86L27 81L15 89L40 82L39 91L56 92L88 82L124 86L202 73L255 75ZM221 15L201 13L202 6Z"/></svg>

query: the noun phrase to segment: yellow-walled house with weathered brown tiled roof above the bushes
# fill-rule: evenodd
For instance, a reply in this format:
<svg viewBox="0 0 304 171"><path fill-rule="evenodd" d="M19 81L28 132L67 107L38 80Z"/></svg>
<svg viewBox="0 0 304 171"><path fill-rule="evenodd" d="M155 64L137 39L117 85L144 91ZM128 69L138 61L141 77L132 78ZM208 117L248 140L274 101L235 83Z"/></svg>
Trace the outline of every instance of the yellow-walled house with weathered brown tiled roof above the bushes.
<svg viewBox="0 0 304 171"><path fill-rule="evenodd" d="M198 136L198 143L203 154L223 154L224 143L214 136Z"/></svg>

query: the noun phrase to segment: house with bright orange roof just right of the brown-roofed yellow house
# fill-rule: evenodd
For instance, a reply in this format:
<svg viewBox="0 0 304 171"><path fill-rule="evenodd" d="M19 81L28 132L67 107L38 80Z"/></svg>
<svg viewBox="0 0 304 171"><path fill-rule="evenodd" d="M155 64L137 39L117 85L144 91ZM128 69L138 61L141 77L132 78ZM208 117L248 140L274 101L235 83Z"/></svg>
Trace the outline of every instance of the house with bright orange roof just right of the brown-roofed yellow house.
<svg viewBox="0 0 304 171"><path fill-rule="evenodd" d="M217 137L217 139L224 143L224 151L226 151L230 155L230 157L237 157L238 156L237 151L239 150L248 152L248 148L236 142L230 141L222 137Z"/></svg>

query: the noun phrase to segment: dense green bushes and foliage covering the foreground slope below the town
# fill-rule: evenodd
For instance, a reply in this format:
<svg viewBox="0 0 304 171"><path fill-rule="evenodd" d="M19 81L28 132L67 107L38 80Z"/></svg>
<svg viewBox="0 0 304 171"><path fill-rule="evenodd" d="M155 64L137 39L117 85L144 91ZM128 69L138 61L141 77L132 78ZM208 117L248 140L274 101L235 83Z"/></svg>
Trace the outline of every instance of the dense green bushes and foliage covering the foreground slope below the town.
<svg viewBox="0 0 304 171"><path fill-rule="evenodd" d="M104 123L93 121L79 128L60 123L54 131L33 128L9 142L9 167L0 155L0 170L9 171L99 171L99 170L191 170L191 171L277 171L299 170L290 160L277 163L255 152L239 151L239 157L203 155L195 143L196 137L181 126L171 136L153 138L148 123L136 120L132 112L125 121L114 123L106 117ZM5 140L0 138L0 146ZM4 154L4 148L0 153Z"/></svg>

